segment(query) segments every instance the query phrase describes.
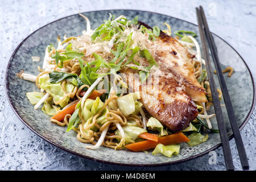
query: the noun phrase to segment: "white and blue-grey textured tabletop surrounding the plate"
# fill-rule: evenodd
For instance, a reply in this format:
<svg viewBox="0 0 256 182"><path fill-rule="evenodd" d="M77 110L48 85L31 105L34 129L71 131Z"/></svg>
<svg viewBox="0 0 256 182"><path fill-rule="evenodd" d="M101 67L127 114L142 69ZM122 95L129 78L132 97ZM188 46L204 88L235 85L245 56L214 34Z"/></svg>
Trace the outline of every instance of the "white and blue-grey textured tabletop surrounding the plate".
<svg viewBox="0 0 256 182"><path fill-rule="evenodd" d="M255 1L1 1L0 6L0 170L117 170L183 169L224 170L222 149L217 164L209 164L209 155L164 167L120 167L92 162L52 146L32 133L14 114L6 100L4 75L7 61L18 44L31 32L53 20L84 11L138 9L171 15L196 23L195 7L202 5L210 30L233 46L256 76L256 2ZM197 23L196 23L197 24ZM250 169L256 170L256 110L242 130ZM234 166L241 169L234 139L230 140Z"/></svg>

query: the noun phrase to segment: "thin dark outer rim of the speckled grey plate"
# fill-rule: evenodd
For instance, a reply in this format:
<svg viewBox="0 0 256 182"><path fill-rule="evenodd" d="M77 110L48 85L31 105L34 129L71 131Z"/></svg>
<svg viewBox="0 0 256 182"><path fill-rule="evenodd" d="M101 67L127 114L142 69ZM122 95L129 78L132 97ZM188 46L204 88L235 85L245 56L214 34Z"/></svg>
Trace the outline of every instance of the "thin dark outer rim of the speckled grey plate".
<svg viewBox="0 0 256 182"><path fill-rule="evenodd" d="M181 20L183 22L187 22L187 23L190 23L190 24L193 24L194 26L197 26L197 24L195 23L191 23L191 22L188 22L187 20L183 20L183 19L180 19L180 18L176 18L174 16L171 16L171 15L166 15L166 14L162 14L162 13L155 13L153 11L146 11L146 10L135 10L135 9L108 9L108 10L93 10L93 11L84 11L82 12L81 14L84 14L84 13L92 13L92 12L98 12L98 11L141 11L141 12L146 12L146 13L151 13L151 14L158 14L158 15L164 15L164 16L168 16L168 18L174 18L174 19L177 19L177 20ZM22 40L22 42L20 42L18 44L18 46L14 49L8 63L7 63L7 67L6 67L6 70L5 70L5 94L7 96L7 100L9 101L9 104L11 106L11 108L13 109L15 115L19 118L19 120L28 127L28 129L30 129L31 131L33 131L36 135L38 135L40 138L46 140L48 143L51 143L53 144L53 146L56 146L57 148L60 148L61 150L64 150L66 152L69 152L73 155L76 155L76 156L79 156L81 158L84 158L84 159L88 159L88 160L92 160L92 161L96 161L96 162L100 162L100 163L105 163L105 164L112 164L112 165L116 165L116 166L130 166L130 167L156 167L156 166L167 166L167 165L172 165L172 164L177 164L177 163L182 163L182 162L186 162L188 160L192 160L192 159L195 159L195 158L198 158L200 156L203 156L205 154L207 154L208 152L210 151L213 151L213 150L216 150L217 148L219 148L220 146L222 146L222 143L219 143L217 144L216 146L213 146L211 148L209 148L208 150L204 151L204 152L201 152L200 154L196 154L196 155L193 155L193 156L190 156L188 158L185 158L185 159L180 159L180 160L175 160L175 161L172 161L172 162L166 162L166 163L157 163L157 164L136 164L136 163L117 163L117 162L109 162L109 161L106 161L106 160L102 160L102 159L97 159L97 158L93 158L93 157L90 157L90 156L86 156L86 155L82 155L80 153L77 153L75 151L72 151L72 150L69 150L68 148L65 148L63 146L60 146L59 144L55 143L55 142L52 142L52 140L44 137L43 135L41 135L40 133L38 133L38 131L36 131L32 126L30 126L26 121L24 121L22 119L22 117L18 114L18 110L16 110L16 108L14 107L12 101L11 101L11 98L10 98L10 95L8 92L8 89L9 88L9 83L7 82L7 73L9 71L9 68L10 68L10 63L11 63L11 60L13 60L13 57L14 55L16 54L16 52L18 51L18 49L20 48L20 46L22 46L22 44L31 36L33 35L35 32L39 31L41 28L43 27L46 27L48 26L49 24L52 24L52 23L55 23L61 19L65 19L65 18L68 18L70 16L75 16L75 15L79 15L79 13L76 13L76 14L72 14L72 15L68 15L68 16L64 16L63 18L59 18L59 19L56 19L50 23L47 23L45 24L44 26L42 27L39 27L38 29L36 29L35 31L33 31L31 34L29 34L26 38L24 38ZM255 94L256 94L256 90L255 90L255 83L254 83L254 77L248 67L248 65L246 64L246 61L243 59L243 57L240 55L240 53L237 52L237 50L231 46L228 42L226 42L226 40L222 39L220 36L218 36L217 34L214 34L213 32L210 32L211 34L217 36L218 38L220 38L222 41L224 41L226 44L228 44L228 46L230 46L236 53L238 56L241 57L243 63L246 65L246 68L248 69L249 73L250 73L250 77L251 77L251 81L253 83L253 103L251 104L251 108L250 108L250 111L249 111L249 114L247 114L245 120L243 121L242 125L239 127L239 130L241 132L241 130L243 129L243 127L246 125L246 123L249 121L250 117L251 117L251 114L253 114L253 110L254 110L254 107L255 107ZM234 138L234 134L230 135L228 137L229 140L231 140L232 138Z"/></svg>

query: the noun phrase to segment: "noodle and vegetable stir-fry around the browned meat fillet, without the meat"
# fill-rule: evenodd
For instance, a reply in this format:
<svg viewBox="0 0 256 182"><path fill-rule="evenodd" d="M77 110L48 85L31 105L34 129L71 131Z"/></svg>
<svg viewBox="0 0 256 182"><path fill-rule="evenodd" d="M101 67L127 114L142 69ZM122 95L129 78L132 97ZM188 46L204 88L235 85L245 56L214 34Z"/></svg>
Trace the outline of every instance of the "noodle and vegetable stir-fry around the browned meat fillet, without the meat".
<svg viewBox="0 0 256 182"><path fill-rule="evenodd" d="M47 46L43 65L38 66L39 75L17 73L35 82L40 90L26 93L34 109L43 105L42 111L51 115L52 123L67 126L67 132L73 130L80 142L90 143L86 148L91 150L100 146L132 151L154 148L152 154L171 157L179 154L181 142L195 146L207 141L204 129L218 132L210 121L214 114L207 113L213 103L194 32L177 31L176 40L193 56L193 72L205 88L207 102L195 101L197 118L175 133L148 113L139 92L127 92L130 85L119 74L130 69L138 71L141 82L147 80L158 67L152 50L157 48L154 41L160 29L139 26L138 16L128 20L123 15L110 15L104 24L91 30L89 19L80 15L86 20L86 31L78 37L64 36L63 40L58 36L57 47ZM168 28L164 32L171 36L170 25L164 24Z"/></svg>

